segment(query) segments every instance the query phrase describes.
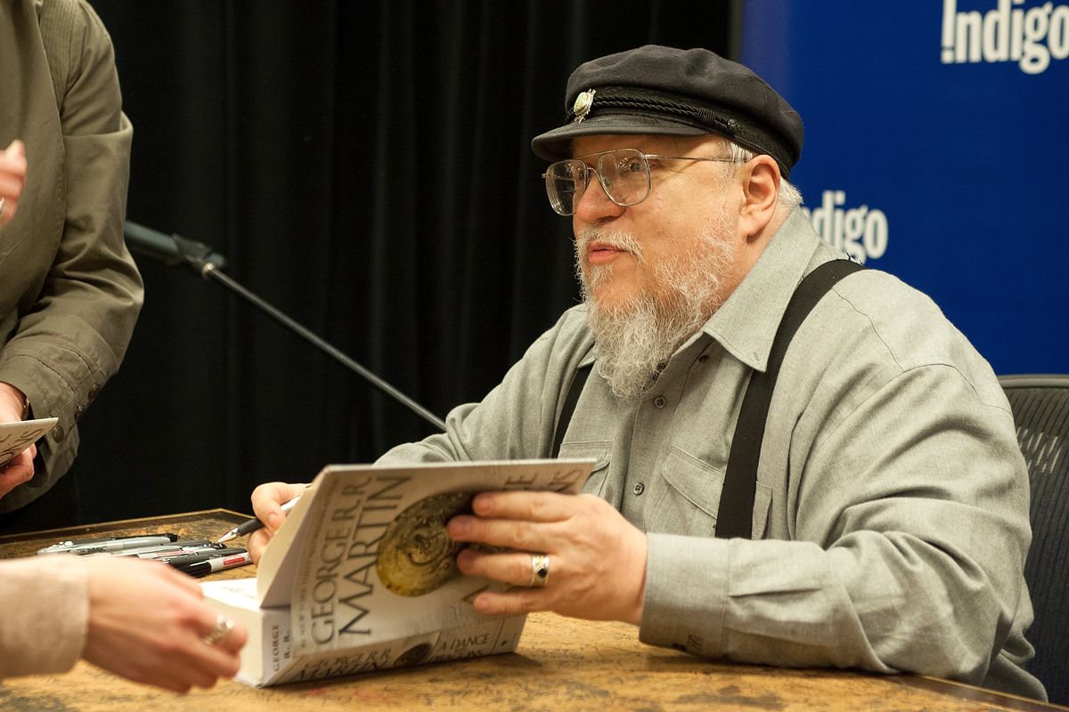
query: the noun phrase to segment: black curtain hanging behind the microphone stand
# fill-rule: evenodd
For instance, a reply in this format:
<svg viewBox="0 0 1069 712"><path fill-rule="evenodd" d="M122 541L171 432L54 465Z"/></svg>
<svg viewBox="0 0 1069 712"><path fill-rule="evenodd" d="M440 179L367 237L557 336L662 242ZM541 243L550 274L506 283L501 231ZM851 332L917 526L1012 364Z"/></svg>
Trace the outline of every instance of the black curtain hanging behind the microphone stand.
<svg viewBox="0 0 1069 712"><path fill-rule="evenodd" d="M94 0L134 127L129 220L439 416L577 299L530 139L582 61L733 53L738 2ZM222 286L138 256L145 305L81 421L87 521L248 511L272 479L433 427Z"/></svg>

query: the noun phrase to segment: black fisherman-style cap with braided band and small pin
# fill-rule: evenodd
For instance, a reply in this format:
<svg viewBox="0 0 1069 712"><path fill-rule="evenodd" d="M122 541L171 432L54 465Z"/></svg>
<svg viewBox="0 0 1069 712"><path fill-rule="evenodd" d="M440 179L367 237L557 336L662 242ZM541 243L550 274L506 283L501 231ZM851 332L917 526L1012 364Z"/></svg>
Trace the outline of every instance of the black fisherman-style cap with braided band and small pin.
<svg viewBox="0 0 1069 712"><path fill-rule="evenodd" d="M708 49L646 45L580 64L564 94L568 123L534 137L546 160L571 157L572 140L605 133L719 133L772 156L784 176L802 154L802 118L747 67Z"/></svg>

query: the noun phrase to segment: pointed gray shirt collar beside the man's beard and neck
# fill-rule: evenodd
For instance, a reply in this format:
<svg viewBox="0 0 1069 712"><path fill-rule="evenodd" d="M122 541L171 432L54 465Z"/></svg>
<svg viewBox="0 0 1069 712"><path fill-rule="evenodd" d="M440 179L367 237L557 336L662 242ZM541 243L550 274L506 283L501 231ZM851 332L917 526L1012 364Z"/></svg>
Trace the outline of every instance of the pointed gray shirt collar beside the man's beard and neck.
<svg viewBox="0 0 1069 712"><path fill-rule="evenodd" d="M805 213L792 210L702 331L739 361L764 371L787 303L822 244Z"/></svg>

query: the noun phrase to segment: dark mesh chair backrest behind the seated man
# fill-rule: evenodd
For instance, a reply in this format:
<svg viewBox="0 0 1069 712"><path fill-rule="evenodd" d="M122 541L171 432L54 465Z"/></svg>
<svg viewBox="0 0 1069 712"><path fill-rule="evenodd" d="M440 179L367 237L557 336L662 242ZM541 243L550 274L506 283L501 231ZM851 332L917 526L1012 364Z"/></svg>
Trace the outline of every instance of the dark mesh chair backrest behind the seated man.
<svg viewBox="0 0 1069 712"><path fill-rule="evenodd" d="M1052 702L1069 705L1069 375L1003 376L1032 485L1032 549L1024 577L1036 621L1028 671Z"/></svg>

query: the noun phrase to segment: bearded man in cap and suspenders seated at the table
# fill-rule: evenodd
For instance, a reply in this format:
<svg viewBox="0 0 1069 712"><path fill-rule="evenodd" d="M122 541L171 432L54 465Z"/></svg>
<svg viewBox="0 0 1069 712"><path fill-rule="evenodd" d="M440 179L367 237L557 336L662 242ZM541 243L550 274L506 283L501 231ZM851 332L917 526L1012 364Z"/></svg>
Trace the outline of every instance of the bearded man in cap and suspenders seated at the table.
<svg viewBox="0 0 1069 712"><path fill-rule="evenodd" d="M446 433L381 460L597 460L584 494L483 493L449 522L508 550L461 552L463 572L516 586L475 607L1042 698L1024 669L1028 479L1009 405L924 295L877 270L823 294L779 363L750 500L722 503L792 295L841 256L795 209L793 109L742 65L655 46L579 66L566 107L532 147L572 218L584 304ZM253 493L257 554L303 489Z"/></svg>

